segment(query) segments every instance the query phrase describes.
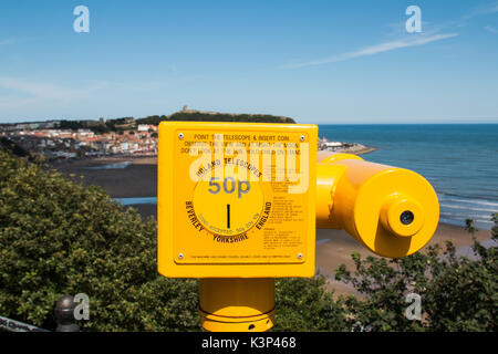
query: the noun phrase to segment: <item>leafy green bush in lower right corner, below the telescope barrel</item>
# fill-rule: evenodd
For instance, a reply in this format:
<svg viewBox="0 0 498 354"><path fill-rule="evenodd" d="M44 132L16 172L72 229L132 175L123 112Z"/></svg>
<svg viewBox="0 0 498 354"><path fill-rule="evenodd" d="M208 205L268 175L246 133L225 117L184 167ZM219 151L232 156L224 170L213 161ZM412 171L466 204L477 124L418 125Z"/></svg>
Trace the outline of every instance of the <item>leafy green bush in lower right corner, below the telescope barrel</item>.
<svg viewBox="0 0 498 354"><path fill-rule="evenodd" d="M492 216L498 240L498 215ZM351 283L364 299L344 300L351 322L372 331L498 331L498 247L483 247L474 238L473 259L458 256L447 242L403 259L353 254L355 271L344 266L336 279ZM408 320L405 299L422 300L422 321Z"/></svg>

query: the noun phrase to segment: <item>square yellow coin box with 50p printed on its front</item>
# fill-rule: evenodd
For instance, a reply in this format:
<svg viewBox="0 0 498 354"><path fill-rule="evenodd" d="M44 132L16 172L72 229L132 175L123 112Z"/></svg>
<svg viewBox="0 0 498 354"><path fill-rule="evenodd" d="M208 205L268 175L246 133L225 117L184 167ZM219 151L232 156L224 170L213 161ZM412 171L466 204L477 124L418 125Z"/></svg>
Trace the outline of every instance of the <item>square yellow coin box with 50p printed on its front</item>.
<svg viewBox="0 0 498 354"><path fill-rule="evenodd" d="M314 274L315 125L163 122L158 271Z"/></svg>

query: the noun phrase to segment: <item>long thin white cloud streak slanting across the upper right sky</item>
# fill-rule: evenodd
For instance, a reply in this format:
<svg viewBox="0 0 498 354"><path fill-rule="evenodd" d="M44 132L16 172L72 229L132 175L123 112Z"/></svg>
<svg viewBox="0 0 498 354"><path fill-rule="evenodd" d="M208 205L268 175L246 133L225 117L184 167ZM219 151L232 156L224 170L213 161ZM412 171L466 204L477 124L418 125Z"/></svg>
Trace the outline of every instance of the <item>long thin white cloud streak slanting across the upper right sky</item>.
<svg viewBox="0 0 498 354"><path fill-rule="evenodd" d="M408 48L408 46L416 46L416 45L424 45L432 42L445 40L448 38L457 37L458 33L446 33L446 34L434 34L434 35L411 35L402 40L397 41L390 41L376 45L365 46L354 52L346 52L342 54L336 54L314 61L308 61L303 63L297 63L297 64L288 64L282 66L283 69L297 69L297 67L304 67L304 66L314 66L314 65L323 65L323 64L330 64L330 63L336 63L342 62L350 59L355 59L360 56L366 56L366 55L374 55L378 53L384 53L388 51L393 51L401 48Z"/></svg>

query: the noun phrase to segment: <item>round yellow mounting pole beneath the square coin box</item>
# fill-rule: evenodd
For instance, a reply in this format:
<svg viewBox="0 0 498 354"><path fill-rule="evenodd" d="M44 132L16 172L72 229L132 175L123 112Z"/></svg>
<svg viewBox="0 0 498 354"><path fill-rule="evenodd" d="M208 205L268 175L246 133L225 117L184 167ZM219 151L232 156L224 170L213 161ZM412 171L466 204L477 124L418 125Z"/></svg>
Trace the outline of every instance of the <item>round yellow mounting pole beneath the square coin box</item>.
<svg viewBox="0 0 498 354"><path fill-rule="evenodd" d="M263 332L274 322L274 279L200 279L200 320L210 332Z"/></svg>

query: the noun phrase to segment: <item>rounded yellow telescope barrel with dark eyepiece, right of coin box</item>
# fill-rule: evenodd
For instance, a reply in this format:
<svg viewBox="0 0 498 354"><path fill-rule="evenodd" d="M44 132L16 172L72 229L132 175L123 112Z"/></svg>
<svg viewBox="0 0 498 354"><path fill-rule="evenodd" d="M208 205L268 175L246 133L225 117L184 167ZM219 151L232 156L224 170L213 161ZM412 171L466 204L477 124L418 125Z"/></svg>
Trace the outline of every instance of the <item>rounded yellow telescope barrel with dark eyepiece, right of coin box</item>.
<svg viewBox="0 0 498 354"><path fill-rule="evenodd" d="M404 168L332 155L317 168L317 228L343 229L372 252L409 256L433 237L439 204L430 184Z"/></svg>

